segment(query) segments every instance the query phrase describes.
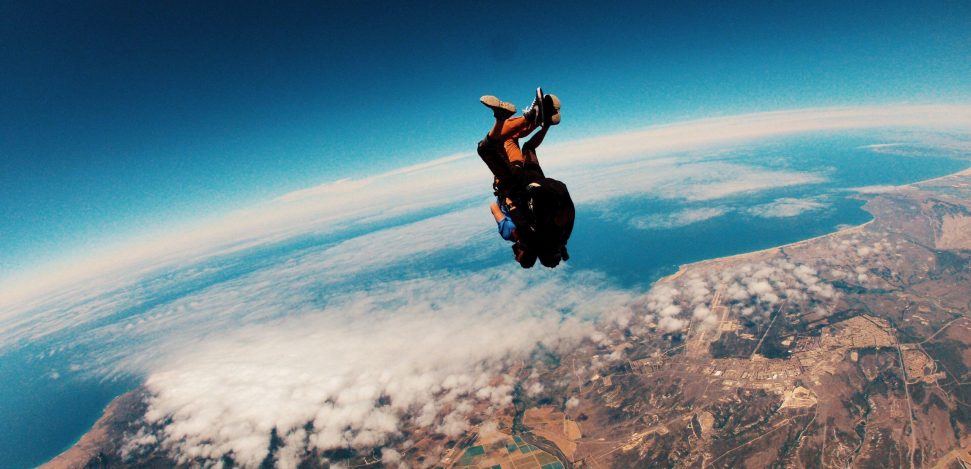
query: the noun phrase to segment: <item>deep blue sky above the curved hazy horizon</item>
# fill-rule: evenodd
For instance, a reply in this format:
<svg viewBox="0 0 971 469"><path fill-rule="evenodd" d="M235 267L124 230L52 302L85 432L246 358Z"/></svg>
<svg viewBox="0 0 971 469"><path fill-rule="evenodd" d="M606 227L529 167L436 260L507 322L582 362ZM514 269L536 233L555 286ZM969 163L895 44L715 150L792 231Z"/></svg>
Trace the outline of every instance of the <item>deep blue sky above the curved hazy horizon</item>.
<svg viewBox="0 0 971 469"><path fill-rule="evenodd" d="M560 140L971 97L965 0L561 3L4 2L0 279L471 151L486 93L557 93Z"/></svg>

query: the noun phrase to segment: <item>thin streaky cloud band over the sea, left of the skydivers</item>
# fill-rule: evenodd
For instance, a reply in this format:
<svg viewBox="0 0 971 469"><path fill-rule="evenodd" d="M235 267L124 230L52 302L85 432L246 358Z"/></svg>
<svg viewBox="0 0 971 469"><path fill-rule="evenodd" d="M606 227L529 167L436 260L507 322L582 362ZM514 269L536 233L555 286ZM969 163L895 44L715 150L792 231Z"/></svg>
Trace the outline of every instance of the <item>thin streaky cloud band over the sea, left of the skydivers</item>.
<svg viewBox="0 0 971 469"><path fill-rule="evenodd" d="M241 319L262 320L281 317L288 312L278 305L290 305L304 296L292 295L304 289L325 289L333 283L346 281L353 275L380 269L401 268L433 254L451 253L464 259L489 256L504 248L496 243L498 236L487 230L491 215L483 207L436 215L416 222L375 230L320 249L316 246L295 250L278 260L280 265L256 269L238 279L229 279L207 290L210 302L219 300L215 309L220 314L200 311L197 297L186 295L132 318L119 317L125 311L137 311L140 305L152 303L157 297L172 296L182 289L191 289L207 277L218 278L222 271L232 269L239 261L228 258L223 264L203 264L174 269L161 275L151 275L133 286L107 292L90 293L93 297L71 290L69 294L50 300L46 308L20 315L3 322L0 328L0 350L23 341L37 341L63 330L83 330L90 324L107 323L88 331L83 338L73 339L79 344L111 344L120 338L134 338L163 333L177 334L178 329L194 329L207 323L221 323L232 327ZM493 225L494 226L494 225ZM272 291L264 291L274 287ZM251 292L276 303L259 301ZM74 297L70 293L76 293ZM253 307L242 310L242 304ZM257 307L265 305L267 307ZM155 318L165 318L154 320ZM2 321L0 321L2 322ZM145 331L152 327L151 331ZM150 333L149 333L150 332Z"/></svg>

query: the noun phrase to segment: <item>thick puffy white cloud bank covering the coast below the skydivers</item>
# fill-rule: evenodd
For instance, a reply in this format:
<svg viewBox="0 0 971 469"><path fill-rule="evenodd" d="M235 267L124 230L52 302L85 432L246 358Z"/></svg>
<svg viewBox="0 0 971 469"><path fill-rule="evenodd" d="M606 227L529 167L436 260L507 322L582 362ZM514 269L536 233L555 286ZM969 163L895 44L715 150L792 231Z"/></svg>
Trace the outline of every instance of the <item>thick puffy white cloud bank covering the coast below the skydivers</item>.
<svg viewBox="0 0 971 469"><path fill-rule="evenodd" d="M275 304L287 296L275 287L251 288L236 305L213 293L191 301L204 309L294 307L289 298ZM229 333L170 336L126 364L151 370L145 419L154 439L144 431L131 439L157 440L184 462L232 454L254 467L273 429L294 454L394 449L406 426L454 437L473 412L511 402L514 379L502 370L513 361L537 343L572 346L603 312L629 301L596 276L574 284L500 268L391 282L323 308L303 303L295 316Z"/></svg>

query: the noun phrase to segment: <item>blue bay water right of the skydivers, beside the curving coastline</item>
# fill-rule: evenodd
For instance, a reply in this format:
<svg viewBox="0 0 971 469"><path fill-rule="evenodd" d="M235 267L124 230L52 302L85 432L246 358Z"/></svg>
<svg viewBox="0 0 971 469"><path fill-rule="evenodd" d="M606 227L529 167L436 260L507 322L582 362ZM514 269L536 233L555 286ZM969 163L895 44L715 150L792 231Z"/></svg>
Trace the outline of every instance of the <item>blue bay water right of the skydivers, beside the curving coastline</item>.
<svg viewBox="0 0 971 469"><path fill-rule="evenodd" d="M602 210L580 207L570 240L570 263L604 271L627 288L646 288L682 264L767 249L865 223L872 217L862 209L866 201L854 189L908 184L971 166L967 160L933 150L920 156L877 153L866 147L868 143L873 142L853 137L788 139L732 160L752 166L771 160L765 166L825 175L826 181L819 184L698 202L629 198L609 207L611 213L628 217L605 217ZM810 199L822 207L791 217L765 218L749 212L779 199ZM705 207L724 213L670 228L638 228L628 221Z"/></svg>

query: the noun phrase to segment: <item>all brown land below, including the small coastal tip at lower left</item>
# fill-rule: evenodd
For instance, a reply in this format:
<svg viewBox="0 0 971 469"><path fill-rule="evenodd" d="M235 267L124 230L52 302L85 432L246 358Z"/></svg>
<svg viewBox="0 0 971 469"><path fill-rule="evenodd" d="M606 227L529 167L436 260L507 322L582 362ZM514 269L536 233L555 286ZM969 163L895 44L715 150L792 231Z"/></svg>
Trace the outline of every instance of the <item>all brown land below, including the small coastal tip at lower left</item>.
<svg viewBox="0 0 971 469"><path fill-rule="evenodd" d="M516 469L967 467L971 171L861 197L874 216L865 225L683 266L655 289L683 292L705 282L710 289L699 298L707 319L664 328L645 300L634 314L655 320L602 324L606 340L564 354L538 351L506 370L519 380L513 404L477 409L461 437L409 429L416 443L403 461ZM802 290L777 288L757 301L740 295L738 279L759 269L802 276ZM523 391L537 382L542 392ZM174 465L160 452L118 456L138 412L138 396L125 399L51 467ZM326 467L324 457L380 467L376 454L314 453L305 467Z"/></svg>

